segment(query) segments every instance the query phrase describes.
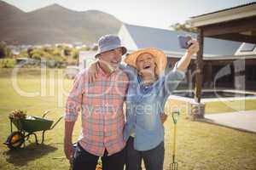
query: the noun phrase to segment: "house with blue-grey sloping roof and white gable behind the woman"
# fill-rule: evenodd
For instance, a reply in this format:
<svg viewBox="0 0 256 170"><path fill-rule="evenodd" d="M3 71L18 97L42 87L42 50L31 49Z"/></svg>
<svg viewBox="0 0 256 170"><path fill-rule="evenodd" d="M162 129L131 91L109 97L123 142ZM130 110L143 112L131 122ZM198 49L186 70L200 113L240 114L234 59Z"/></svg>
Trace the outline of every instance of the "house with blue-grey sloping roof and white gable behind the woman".
<svg viewBox="0 0 256 170"><path fill-rule="evenodd" d="M139 48L160 48L167 55L166 71L170 71L173 65L180 59L185 50L179 47L178 35L191 35L197 37L197 34L185 31L171 31L159 28L133 26L124 24L119 30L119 37L128 49L128 53ZM239 69L239 65L243 65L246 61L250 73L247 72L247 82L256 82L256 54L255 44L234 42L228 40L221 40L212 37L204 38L204 67L203 67L203 88L212 88L215 84L218 88L237 88L239 83L235 81L234 69ZM252 50L253 49L253 50ZM251 50L247 53L247 50ZM243 59L243 60L241 60ZM183 82L183 88L194 88L195 85L195 71L196 71L196 56L192 57L189 65L189 71ZM222 68L228 68L224 75L219 75ZM236 66L234 66L236 65ZM223 72L223 71L221 71ZM216 80L218 76L218 80ZM249 89L256 89L254 83L248 84Z"/></svg>

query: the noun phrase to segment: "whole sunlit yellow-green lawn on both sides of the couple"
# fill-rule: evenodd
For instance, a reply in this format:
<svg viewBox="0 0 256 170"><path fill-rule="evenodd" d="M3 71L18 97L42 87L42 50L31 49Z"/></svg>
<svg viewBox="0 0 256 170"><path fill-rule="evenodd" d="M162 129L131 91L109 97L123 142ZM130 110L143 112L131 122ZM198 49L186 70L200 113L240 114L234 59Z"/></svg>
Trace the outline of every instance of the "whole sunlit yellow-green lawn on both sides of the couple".
<svg viewBox="0 0 256 170"><path fill-rule="evenodd" d="M9 112L14 109L26 110L29 115L41 116L50 110L49 119L56 120L64 113L65 93L72 87L72 80L61 78L61 70L50 70L46 74L46 90L41 91L40 71L22 69L18 84L24 92L40 92L35 97L17 94L10 79L10 69L0 69L0 169L68 169L68 161L63 157L63 129L61 121L55 129L46 132L44 144L36 145L34 140L26 142L20 150L9 150L3 142L9 136ZM50 83L49 77L54 77ZM53 83L55 82L55 83ZM44 85L44 83L43 83ZM59 89L62 88L63 91ZM253 100L246 101L246 109L255 109ZM179 101L168 106L178 105L182 116L177 122L177 161L179 169L256 169L256 134L218 127L203 122L191 122L186 119L188 107ZM218 102L207 104L207 113L218 112ZM239 103L235 103L239 105ZM218 107L216 109L215 107ZM234 107L235 108L235 107ZM233 111L233 110L221 110ZM166 110L167 112L167 110ZM80 122L76 123L73 139L79 135ZM172 158L172 118L165 123L165 169L169 169ZM38 133L39 139L41 134Z"/></svg>

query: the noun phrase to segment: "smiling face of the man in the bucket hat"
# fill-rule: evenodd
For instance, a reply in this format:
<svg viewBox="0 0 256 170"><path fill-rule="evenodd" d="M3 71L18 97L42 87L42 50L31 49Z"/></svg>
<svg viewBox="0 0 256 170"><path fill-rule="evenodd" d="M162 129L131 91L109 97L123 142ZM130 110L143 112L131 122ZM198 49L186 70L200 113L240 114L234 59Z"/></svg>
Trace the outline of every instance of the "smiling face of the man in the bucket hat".
<svg viewBox="0 0 256 170"><path fill-rule="evenodd" d="M104 52L100 54L99 59L105 65L112 67L112 69L116 69L122 59L122 48L115 48L110 51Z"/></svg>

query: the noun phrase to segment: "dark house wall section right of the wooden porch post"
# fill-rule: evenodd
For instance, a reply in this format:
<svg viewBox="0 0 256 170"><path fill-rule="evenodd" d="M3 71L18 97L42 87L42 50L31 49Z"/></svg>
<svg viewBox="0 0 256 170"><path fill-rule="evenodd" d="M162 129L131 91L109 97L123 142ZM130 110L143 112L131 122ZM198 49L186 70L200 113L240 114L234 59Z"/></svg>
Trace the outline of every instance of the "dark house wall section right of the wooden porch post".
<svg viewBox="0 0 256 170"><path fill-rule="evenodd" d="M217 88L255 91L256 59L204 61L203 82L204 88L212 88L207 82L215 82Z"/></svg>

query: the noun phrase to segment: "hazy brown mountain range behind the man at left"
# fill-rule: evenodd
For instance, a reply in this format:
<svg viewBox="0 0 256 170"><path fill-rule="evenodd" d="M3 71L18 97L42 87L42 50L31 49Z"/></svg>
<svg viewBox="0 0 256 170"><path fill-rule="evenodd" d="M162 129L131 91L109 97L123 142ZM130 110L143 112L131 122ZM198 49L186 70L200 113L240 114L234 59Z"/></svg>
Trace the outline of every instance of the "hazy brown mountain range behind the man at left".
<svg viewBox="0 0 256 170"><path fill-rule="evenodd" d="M0 1L0 41L8 44L91 44L104 34L116 34L121 24L98 10L79 12L53 4L25 13Z"/></svg>

